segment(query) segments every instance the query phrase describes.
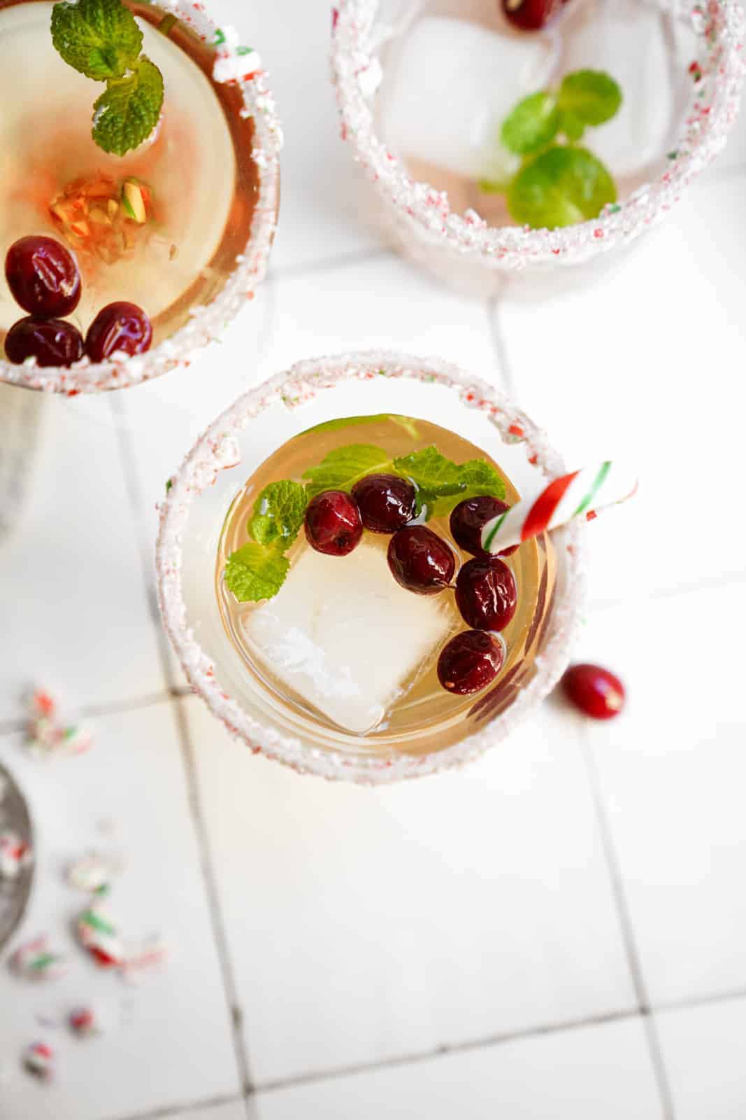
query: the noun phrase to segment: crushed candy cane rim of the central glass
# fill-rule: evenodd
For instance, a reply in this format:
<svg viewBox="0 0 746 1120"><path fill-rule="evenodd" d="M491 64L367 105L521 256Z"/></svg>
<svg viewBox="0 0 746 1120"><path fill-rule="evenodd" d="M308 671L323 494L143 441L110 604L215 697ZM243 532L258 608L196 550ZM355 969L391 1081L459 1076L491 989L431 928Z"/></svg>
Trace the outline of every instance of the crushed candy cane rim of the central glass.
<svg viewBox="0 0 746 1120"><path fill-rule="evenodd" d="M567 668L585 599L585 525L576 520L553 535L558 558L561 558L559 562L564 560L567 590L555 605L545 648L535 662L535 676L506 712L440 752L409 756L386 749L380 755L360 756L327 750L253 718L225 691L219 670L196 637L198 619L188 617L183 598L182 534L192 502L213 484L217 472L240 461L235 433L243 431L271 407L280 405L292 411L339 384L379 380L381 375L391 380L436 383L450 389L454 405L479 409L488 416L506 442L523 442L527 459L545 477L565 473L563 458L532 420L494 385L448 362L388 351L306 360L244 393L207 428L188 452L179 473L170 480L166 498L158 507L160 529L155 548L163 625L190 684L211 712L254 753L264 754L302 774L363 784L397 782L460 766L504 739L551 691ZM333 414L333 401L330 400L329 407Z"/></svg>

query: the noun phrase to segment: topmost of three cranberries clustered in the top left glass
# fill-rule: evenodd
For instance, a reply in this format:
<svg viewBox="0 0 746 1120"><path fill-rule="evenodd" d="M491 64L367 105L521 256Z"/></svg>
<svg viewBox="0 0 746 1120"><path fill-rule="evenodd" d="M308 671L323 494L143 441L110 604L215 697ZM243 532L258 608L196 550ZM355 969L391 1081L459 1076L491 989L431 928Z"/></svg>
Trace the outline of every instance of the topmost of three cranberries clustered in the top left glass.
<svg viewBox="0 0 746 1120"><path fill-rule="evenodd" d="M20 237L6 255L6 280L30 315L69 315L81 298L75 258L54 237Z"/></svg>

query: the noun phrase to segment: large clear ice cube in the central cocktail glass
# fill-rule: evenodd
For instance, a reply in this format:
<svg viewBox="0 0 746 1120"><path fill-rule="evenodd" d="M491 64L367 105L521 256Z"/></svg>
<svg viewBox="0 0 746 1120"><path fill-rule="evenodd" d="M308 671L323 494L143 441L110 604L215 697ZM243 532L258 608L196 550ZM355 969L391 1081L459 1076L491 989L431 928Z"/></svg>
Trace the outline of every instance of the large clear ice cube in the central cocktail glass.
<svg viewBox="0 0 746 1120"><path fill-rule="evenodd" d="M447 592L395 582L386 552L362 542L348 557L306 548L274 599L247 612L253 654L339 727L371 731L433 655L456 617Z"/></svg>

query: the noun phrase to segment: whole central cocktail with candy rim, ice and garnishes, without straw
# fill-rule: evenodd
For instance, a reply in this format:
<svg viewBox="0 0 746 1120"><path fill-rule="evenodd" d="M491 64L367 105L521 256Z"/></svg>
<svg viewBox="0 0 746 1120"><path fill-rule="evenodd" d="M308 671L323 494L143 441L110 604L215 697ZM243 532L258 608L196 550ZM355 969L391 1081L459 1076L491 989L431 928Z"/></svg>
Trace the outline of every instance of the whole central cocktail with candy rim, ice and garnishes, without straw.
<svg viewBox="0 0 746 1120"><path fill-rule="evenodd" d="M565 668L584 531L558 530L499 558L485 581L469 577L464 590L462 580L466 622L454 585L470 556L451 533L447 503L469 493L462 483L489 489L495 478L513 502L563 467L529 418L448 363L363 352L301 362L257 386L192 448L161 506L161 612L190 681L239 740L296 769L386 782L474 757ZM453 484L431 513L428 469ZM374 498L383 501L391 472L397 516L407 476L418 510L387 534ZM378 475L372 497L357 474ZM309 482L319 498L330 486L340 494L321 538L306 519L317 501ZM278 494L284 513L273 505ZM350 500L374 528L356 528ZM329 550L340 514L352 547ZM481 612L484 588L502 605ZM446 691L438 657L475 624L492 627L489 672L450 671ZM479 647L471 641L470 655Z"/></svg>

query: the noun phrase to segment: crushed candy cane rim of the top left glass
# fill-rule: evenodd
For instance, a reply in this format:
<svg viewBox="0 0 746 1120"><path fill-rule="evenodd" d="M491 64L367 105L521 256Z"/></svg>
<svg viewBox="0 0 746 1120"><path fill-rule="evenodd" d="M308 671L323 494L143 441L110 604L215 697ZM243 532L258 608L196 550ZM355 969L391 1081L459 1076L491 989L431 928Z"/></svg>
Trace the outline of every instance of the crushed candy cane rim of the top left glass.
<svg viewBox="0 0 746 1120"><path fill-rule="evenodd" d="M159 0L158 7L189 25L204 43L215 45L214 81L238 85L244 102L242 116L254 120L252 155L257 169L258 198L246 249L236 258L236 268L217 296L209 304L192 307L189 321L145 354L100 363L83 358L69 368L32 363L13 365L0 357L0 381L75 396L125 389L159 377L169 370L188 365L197 351L219 338L264 280L277 225L278 157L283 140L267 73L258 53L242 47L233 28L218 27L200 0Z"/></svg>

